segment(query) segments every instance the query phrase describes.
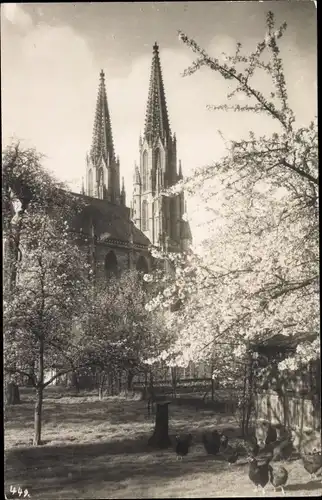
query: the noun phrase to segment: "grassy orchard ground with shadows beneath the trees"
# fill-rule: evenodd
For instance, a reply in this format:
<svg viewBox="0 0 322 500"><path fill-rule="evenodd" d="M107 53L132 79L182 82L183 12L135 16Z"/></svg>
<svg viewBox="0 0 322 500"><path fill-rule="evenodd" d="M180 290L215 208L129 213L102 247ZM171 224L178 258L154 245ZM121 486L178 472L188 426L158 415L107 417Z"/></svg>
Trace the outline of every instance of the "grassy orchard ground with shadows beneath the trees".
<svg viewBox="0 0 322 500"><path fill-rule="evenodd" d="M206 455L201 432L225 429L237 436L236 420L214 411L169 406L169 433L191 432L193 446L182 461L173 449L147 446L153 422L146 402L91 395L61 396L47 390L44 444L32 447L33 403L10 407L5 422L6 491L28 489L34 499L202 498L261 496L248 479L245 457L231 467ZM301 462L284 464L289 471L286 495L321 496L321 480L310 480ZM267 486L266 496L279 496ZM18 498L18 497L17 497Z"/></svg>

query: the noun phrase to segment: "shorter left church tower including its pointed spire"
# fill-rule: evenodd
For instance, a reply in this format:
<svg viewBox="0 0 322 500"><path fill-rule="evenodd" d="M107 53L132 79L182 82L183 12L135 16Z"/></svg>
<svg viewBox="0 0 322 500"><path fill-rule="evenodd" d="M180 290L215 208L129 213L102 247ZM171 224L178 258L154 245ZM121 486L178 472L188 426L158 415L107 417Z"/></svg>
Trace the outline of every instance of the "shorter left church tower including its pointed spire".
<svg viewBox="0 0 322 500"><path fill-rule="evenodd" d="M100 73L92 146L86 157L85 194L125 205L124 186L120 192L120 161L114 152L103 70Z"/></svg>

